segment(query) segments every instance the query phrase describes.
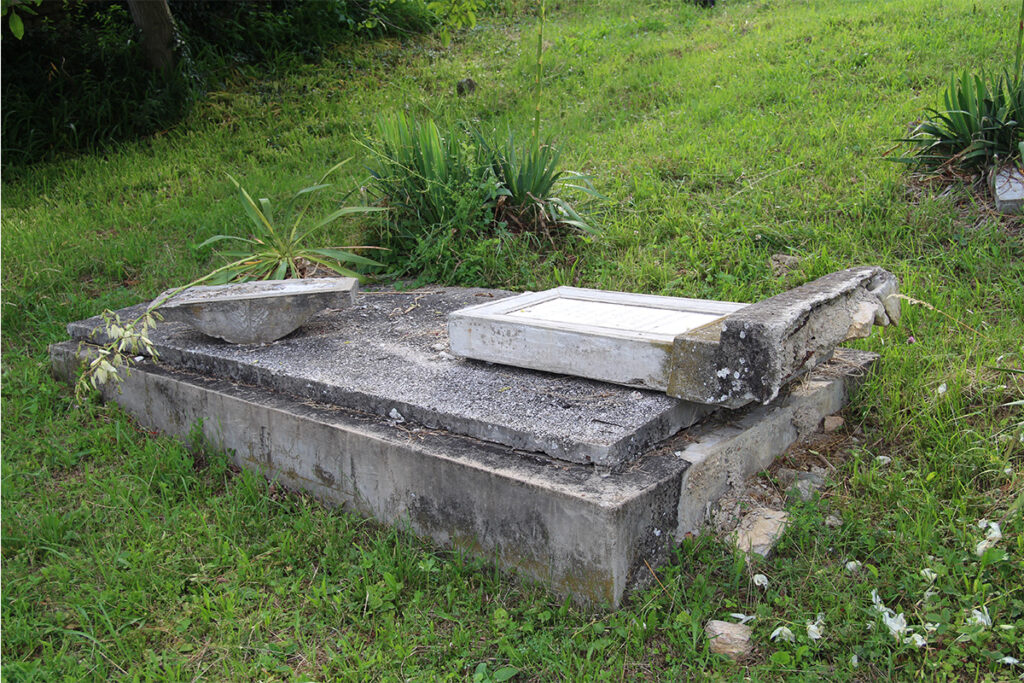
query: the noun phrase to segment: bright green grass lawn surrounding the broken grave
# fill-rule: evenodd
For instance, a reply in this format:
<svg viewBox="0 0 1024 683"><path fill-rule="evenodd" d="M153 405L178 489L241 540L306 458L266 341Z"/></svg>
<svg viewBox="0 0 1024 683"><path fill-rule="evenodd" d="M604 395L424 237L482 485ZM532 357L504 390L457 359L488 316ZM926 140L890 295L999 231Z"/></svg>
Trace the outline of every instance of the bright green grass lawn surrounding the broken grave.
<svg viewBox="0 0 1024 683"><path fill-rule="evenodd" d="M626 608L584 612L236 472L224 454L147 433L116 407L76 408L48 374L46 345L67 322L221 263L195 245L247 230L225 173L276 197L354 157L343 184L358 187L359 139L398 110L526 136L537 18L513 7L449 47L388 39L231 74L152 139L5 170L5 680L1024 672L1000 661L1024 660L1024 417L1008 405L1024 398L1024 231L964 187L915 181L883 158L939 103L950 72L1010 67L1019 5L550 4L543 129L606 198L580 198L600 231L498 253L466 284L753 301L869 263L927 302L858 342L882 356L846 413L864 438L822 454L831 480L791 509L776 555L746 567L696 538ZM458 97L466 77L479 87ZM359 220L330 242L360 244ZM776 253L800 265L773 275ZM992 532L982 519L1001 538L978 555ZM927 644L894 637L872 591ZM741 665L711 654L702 634L732 612L757 617ZM782 626L795 642L770 639Z"/></svg>

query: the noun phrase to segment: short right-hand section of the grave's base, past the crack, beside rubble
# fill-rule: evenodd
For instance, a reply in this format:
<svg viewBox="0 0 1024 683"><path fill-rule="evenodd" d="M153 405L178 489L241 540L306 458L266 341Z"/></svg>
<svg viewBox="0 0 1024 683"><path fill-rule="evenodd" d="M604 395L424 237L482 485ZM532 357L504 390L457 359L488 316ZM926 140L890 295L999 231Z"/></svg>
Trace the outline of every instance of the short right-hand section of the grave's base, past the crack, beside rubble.
<svg viewBox="0 0 1024 683"><path fill-rule="evenodd" d="M679 497L677 541L699 531L710 503L771 465L786 449L817 430L825 416L842 410L878 357L867 351L836 349L827 366L794 385L780 399L748 409L738 420L725 422L720 417L691 430L694 442L678 452L690 467L683 475Z"/></svg>

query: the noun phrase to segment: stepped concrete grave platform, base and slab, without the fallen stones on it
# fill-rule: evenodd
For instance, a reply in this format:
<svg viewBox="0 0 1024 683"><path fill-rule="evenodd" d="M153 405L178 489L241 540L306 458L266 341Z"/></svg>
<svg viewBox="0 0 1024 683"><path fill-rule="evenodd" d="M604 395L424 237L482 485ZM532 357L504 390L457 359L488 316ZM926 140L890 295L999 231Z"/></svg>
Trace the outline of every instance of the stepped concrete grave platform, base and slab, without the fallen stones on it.
<svg viewBox="0 0 1024 683"><path fill-rule="evenodd" d="M161 324L159 362L105 398L169 434L201 424L240 466L326 503L618 605L732 482L839 411L874 359L839 349L769 404L709 415L444 350L451 310L508 294L364 293L265 345ZM72 324L75 341L51 347L58 376L74 378L97 327Z"/></svg>

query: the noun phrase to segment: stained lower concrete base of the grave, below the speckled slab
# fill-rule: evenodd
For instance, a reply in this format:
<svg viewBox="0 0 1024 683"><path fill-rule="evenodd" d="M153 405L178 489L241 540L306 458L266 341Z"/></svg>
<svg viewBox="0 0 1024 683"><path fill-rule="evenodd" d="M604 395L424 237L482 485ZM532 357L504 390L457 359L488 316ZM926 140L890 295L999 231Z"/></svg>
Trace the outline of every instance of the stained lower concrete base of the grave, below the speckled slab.
<svg viewBox="0 0 1024 683"><path fill-rule="evenodd" d="M88 345L50 347L74 378ZM139 423L204 436L322 501L465 549L584 605L618 606L733 482L842 408L874 356L837 354L768 405L719 415L621 472L142 361L104 396Z"/></svg>

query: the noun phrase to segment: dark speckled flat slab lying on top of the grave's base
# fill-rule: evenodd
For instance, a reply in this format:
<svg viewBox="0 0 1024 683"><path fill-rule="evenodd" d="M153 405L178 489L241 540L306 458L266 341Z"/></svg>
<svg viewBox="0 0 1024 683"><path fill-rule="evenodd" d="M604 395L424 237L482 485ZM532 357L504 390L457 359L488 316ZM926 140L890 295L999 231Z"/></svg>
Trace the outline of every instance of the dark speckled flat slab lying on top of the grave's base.
<svg viewBox="0 0 1024 683"><path fill-rule="evenodd" d="M312 317L272 344L227 344L177 323L158 325L151 339L161 362L183 371L611 469L713 410L446 352L449 313L509 296L443 288L364 292L358 304ZM85 341L101 327L93 317L69 332Z"/></svg>

